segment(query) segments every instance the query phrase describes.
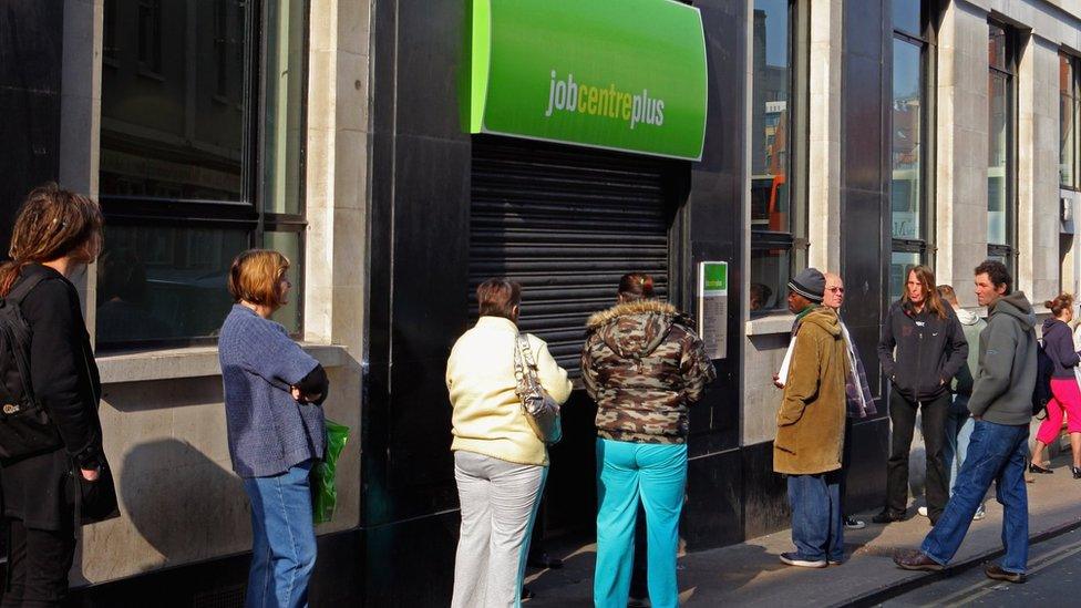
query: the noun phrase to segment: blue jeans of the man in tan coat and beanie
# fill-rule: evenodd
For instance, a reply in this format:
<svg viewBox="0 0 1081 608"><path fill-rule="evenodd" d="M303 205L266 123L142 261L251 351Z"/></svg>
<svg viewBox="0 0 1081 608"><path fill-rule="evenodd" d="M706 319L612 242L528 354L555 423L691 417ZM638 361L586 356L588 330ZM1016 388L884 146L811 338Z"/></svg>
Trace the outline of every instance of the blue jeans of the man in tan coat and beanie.
<svg viewBox="0 0 1081 608"><path fill-rule="evenodd" d="M841 471L819 475L789 475L792 543L801 559L844 559L842 475Z"/></svg>

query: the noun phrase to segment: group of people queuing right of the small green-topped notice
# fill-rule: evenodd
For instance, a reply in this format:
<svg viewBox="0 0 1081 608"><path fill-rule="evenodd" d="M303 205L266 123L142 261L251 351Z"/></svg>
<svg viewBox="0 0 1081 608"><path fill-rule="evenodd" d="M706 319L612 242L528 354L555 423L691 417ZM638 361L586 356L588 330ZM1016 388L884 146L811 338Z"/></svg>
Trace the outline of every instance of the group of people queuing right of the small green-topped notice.
<svg viewBox="0 0 1081 608"><path fill-rule="evenodd" d="M866 405L861 398L858 357L836 313L844 301L843 282L830 277L810 268L789 282L793 339L773 378L784 390L774 471L787 480L795 547L780 559L809 568L844 563L844 408L847 403L851 416ZM979 305L987 307L987 322L961 309L953 287L936 286L926 267L909 271L904 295L889 309L878 354L889 379L893 440L885 507L874 522L888 524L906 516L908 451L918 411L927 447L924 513L933 529L919 549L898 552L895 563L905 569L943 569L971 522L982 517L984 496L995 482L1006 511L1006 557L999 565L988 565L985 573L992 579L1022 583L1028 552L1025 467L1041 347L1032 307L1023 292L1012 290L1012 277L1002 264L985 261L975 269L974 282ZM1060 296L1047 306L1054 315L1044 327L1047 352L1054 361L1056 378L1065 380L1065 371L1072 374L1081 362L1064 326L1069 320L1064 317L1071 313L1063 309L1072 307L1072 299ZM1052 409L1069 415L1072 395L1079 392L1077 381L1070 381L1072 387L1054 384L1044 422L1048 441L1062 423L1061 413L1052 418ZM1034 460L1033 466L1041 462Z"/></svg>

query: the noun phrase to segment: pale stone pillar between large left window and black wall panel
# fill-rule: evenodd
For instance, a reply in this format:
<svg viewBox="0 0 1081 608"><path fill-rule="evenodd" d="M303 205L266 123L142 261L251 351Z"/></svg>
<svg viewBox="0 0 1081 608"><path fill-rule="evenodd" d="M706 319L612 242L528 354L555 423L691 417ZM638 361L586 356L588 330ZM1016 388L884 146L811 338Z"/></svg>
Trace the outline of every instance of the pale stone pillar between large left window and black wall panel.
<svg viewBox="0 0 1081 608"><path fill-rule="evenodd" d="M363 346L369 2L312 0L308 68L305 339Z"/></svg>

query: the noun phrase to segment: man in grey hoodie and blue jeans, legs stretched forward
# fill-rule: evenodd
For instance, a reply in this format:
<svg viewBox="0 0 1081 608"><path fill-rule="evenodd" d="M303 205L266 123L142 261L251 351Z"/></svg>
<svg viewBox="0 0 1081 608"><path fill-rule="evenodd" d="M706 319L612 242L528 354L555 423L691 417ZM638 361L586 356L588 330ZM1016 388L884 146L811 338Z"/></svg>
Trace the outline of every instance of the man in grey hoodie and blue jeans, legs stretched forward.
<svg viewBox="0 0 1081 608"><path fill-rule="evenodd" d="M968 457L957 478L954 496L918 550L898 552L894 563L907 570L940 570L960 548L984 494L996 483L1005 507L1002 564L988 564L988 578L1023 583L1029 550L1028 495L1025 456L1032 389L1036 387L1036 315L1001 262L976 267L976 297L988 310L987 328L979 338L979 369L968 401L976 420Z"/></svg>

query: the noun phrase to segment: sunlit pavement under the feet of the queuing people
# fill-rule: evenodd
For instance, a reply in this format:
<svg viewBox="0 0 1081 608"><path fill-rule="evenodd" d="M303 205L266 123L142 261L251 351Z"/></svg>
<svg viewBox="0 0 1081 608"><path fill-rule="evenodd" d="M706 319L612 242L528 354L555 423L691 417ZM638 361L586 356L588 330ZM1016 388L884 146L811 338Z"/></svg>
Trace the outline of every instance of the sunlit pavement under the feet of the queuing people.
<svg viewBox="0 0 1081 608"><path fill-rule="evenodd" d="M1081 480L1070 474L1069 453L1052 462L1054 474L1036 475L1028 484L1029 535L1037 543L1081 528ZM926 517L909 506L909 519L889 525L871 523L873 513L858 514L867 522L859 530L845 530L848 559L840 566L809 569L782 564L778 555L792 550L789 530L753 538L738 545L696 552L679 558L680 601L689 606L877 606L926 585L969 573L1002 553L1002 507L991 498L987 517L974 522L965 543L943 573L897 568L894 552L919 546L930 529ZM564 558L557 570L529 571L526 586L535 594L529 608L593 605L596 545L548 547ZM1030 564L1031 565L1031 564ZM978 576L982 576L977 569Z"/></svg>

